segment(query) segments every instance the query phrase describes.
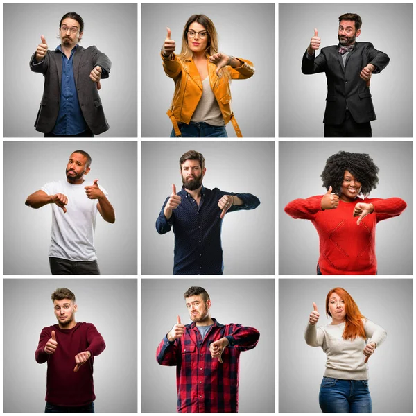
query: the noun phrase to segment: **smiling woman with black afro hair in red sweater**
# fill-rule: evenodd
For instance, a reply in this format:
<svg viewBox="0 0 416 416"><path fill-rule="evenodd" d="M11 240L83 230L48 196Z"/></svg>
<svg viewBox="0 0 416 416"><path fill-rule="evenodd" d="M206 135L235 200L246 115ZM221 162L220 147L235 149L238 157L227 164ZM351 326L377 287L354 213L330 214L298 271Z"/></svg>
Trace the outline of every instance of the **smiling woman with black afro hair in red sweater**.
<svg viewBox="0 0 416 416"><path fill-rule="evenodd" d="M286 205L286 214L311 220L318 231L318 275L376 275L376 223L406 208L400 198L367 198L379 183L377 173L370 155L340 151L321 174L327 193Z"/></svg>

